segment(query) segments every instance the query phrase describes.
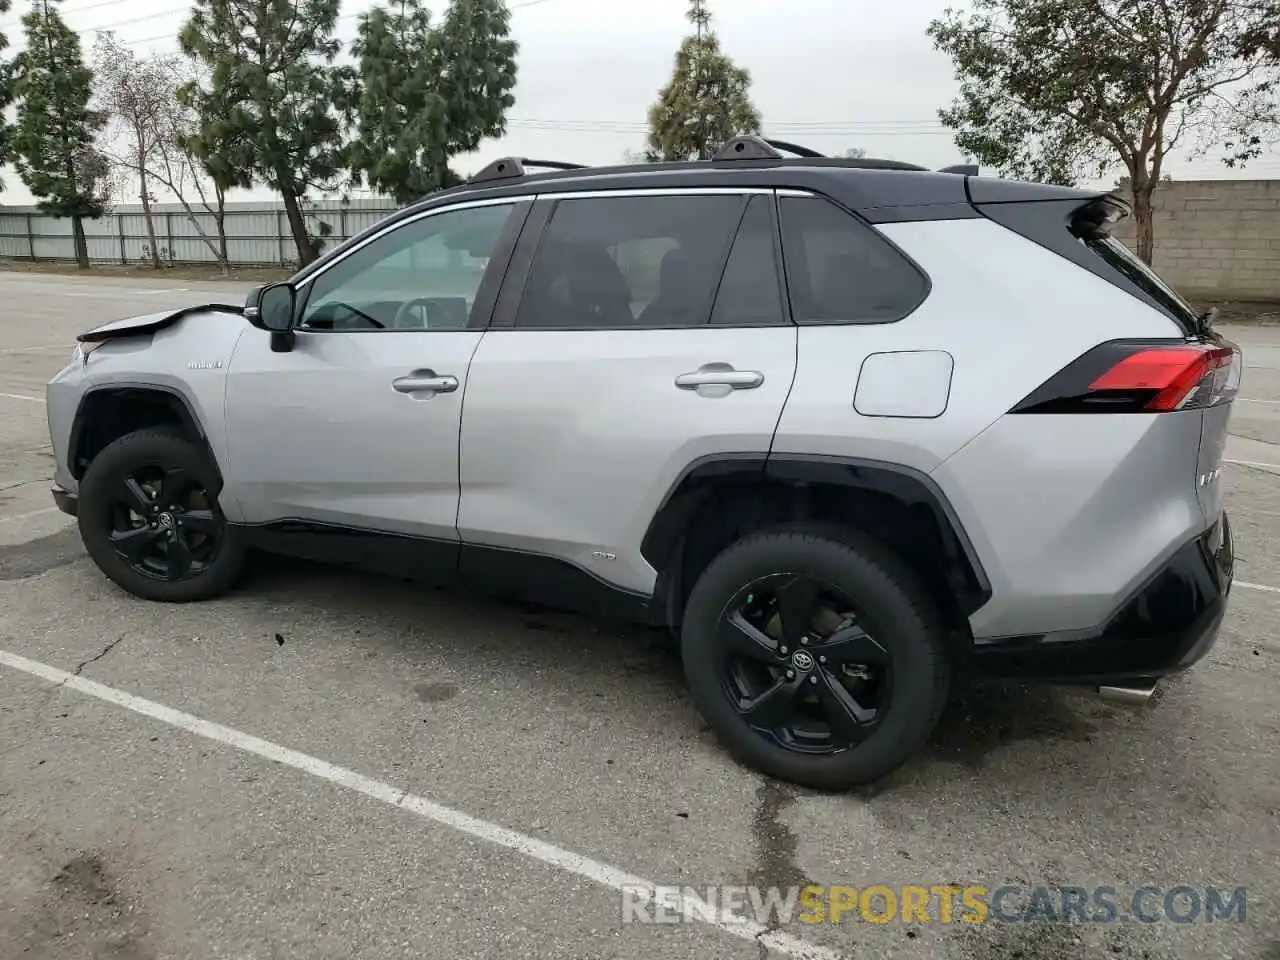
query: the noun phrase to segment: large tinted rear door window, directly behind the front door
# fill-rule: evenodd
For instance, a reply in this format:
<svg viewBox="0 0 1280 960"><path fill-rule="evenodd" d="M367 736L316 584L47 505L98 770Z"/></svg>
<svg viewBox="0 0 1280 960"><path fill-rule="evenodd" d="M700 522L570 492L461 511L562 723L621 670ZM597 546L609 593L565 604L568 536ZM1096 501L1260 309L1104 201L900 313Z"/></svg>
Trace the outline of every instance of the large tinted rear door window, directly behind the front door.
<svg viewBox="0 0 1280 960"><path fill-rule="evenodd" d="M705 324L745 202L741 196L559 201L516 326Z"/></svg>

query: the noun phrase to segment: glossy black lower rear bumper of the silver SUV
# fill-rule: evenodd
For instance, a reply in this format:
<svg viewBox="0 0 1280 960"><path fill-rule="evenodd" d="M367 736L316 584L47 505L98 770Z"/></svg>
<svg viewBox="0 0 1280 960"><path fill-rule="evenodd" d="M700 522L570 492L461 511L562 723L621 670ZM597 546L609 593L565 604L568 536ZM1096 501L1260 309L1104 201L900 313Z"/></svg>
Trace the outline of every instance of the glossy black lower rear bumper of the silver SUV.
<svg viewBox="0 0 1280 960"><path fill-rule="evenodd" d="M974 667L1002 680L1117 686L1187 669L1217 641L1234 566L1222 513L1101 627L975 644Z"/></svg>

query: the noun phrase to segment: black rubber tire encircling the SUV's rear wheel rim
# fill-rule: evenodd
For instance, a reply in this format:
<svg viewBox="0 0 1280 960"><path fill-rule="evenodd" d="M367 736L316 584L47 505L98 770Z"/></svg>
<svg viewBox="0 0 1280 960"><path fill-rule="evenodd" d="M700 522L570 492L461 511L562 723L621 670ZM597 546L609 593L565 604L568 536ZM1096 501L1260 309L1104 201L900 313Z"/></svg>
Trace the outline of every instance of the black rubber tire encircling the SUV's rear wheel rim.
<svg viewBox="0 0 1280 960"><path fill-rule="evenodd" d="M773 581L764 580L771 576ZM786 580L778 581L778 576ZM876 719L868 726L858 727L858 736L865 739L855 736L844 746L838 742L837 727L828 724L831 745L826 753L814 753L817 741L788 739L776 731L763 732L753 727L742 712L748 700L739 699L735 704L739 687L731 689L739 682L733 677L741 676L733 673L733 664L740 668L744 662L736 653L741 646L741 630L735 632L732 627L733 622L741 621L722 621L722 617L730 617L739 609L737 602L744 594L748 603L759 602L756 594L746 593L749 588L759 589L751 588L753 584L783 582L782 590L790 590L791 584L800 582L796 577L818 582L822 590L835 588L856 609L856 621L844 620L844 631L832 634L828 640L861 630L864 635L859 641L872 641L877 648L876 657L883 658L884 663L879 673L881 682L888 689L887 707L877 710ZM773 609L780 618L774 622L783 620L782 602L778 603ZM810 617L804 620L812 622ZM774 641L780 650L786 650L777 637ZM835 649L822 646L824 641L817 634L810 639L808 626L800 643L819 644L805 648L812 652ZM710 562L694 585L685 607L681 646L694 704L727 750L740 763L762 773L818 790L849 790L881 780L900 767L937 723L950 689L946 630L936 604L896 554L854 531L791 526L751 534L731 544ZM748 646L753 648L750 657L754 658L759 650L751 644ZM803 657L799 648L792 652L792 658L796 654ZM751 658L746 662L754 664ZM831 659L840 658L832 655ZM790 673L778 669L778 664L769 664L767 669L773 678L765 680L762 690L786 685L812 700L805 709L819 717L824 713L829 716L823 698L828 705L840 700L832 692L835 682L845 686L847 692L850 687L845 671L849 668L844 664L838 669L835 664L819 667L814 657L805 663L806 668L792 662L783 663L782 669L794 668ZM809 673L805 675L804 669ZM864 672L869 668L852 669ZM800 675L800 680L783 680L783 676L795 673ZM813 686L794 686L801 681ZM864 681L855 678L851 682ZM876 681L865 682L872 685ZM758 698L755 703L763 699ZM769 716L772 718L773 714ZM840 721L845 726L858 726L846 723L849 718L844 716ZM873 732L867 735L865 731Z"/></svg>

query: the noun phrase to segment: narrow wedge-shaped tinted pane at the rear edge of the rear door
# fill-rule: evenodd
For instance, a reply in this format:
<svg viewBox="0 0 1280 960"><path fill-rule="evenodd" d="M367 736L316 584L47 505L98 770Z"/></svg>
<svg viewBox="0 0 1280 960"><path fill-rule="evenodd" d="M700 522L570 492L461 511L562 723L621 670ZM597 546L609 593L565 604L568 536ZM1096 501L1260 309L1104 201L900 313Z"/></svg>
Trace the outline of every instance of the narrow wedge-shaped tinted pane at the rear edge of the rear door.
<svg viewBox="0 0 1280 960"><path fill-rule="evenodd" d="M712 323L767 326L786 323L778 289L769 197L751 197L724 266Z"/></svg>

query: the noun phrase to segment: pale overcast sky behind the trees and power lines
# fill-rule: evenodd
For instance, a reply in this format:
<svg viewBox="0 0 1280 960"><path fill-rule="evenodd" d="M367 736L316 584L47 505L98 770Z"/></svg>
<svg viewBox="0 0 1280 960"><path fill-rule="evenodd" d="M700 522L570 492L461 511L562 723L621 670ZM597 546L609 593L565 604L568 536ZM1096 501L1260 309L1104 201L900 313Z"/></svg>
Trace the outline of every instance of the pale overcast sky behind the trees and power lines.
<svg viewBox="0 0 1280 960"><path fill-rule="evenodd" d="M0 18L12 49L23 44L14 0ZM645 114L671 76L690 31L686 0L509 0L520 44L516 105L508 133L460 157L467 173L503 155L607 164L645 140ZM372 4L346 0L338 24L349 44L356 17ZM438 9L443 9L440 0ZM945 166L963 160L937 109L955 91L950 60L925 36L947 0L709 0L722 49L751 73L765 134L823 152L863 147L872 156ZM187 6L169 0L64 0L81 32L114 29L138 54L177 50ZM874 9L874 15L872 14ZM1233 174L1211 159L1175 165L1176 178L1277 177L1280 154ZM13 170L0 202L31 202ZM270 196L257 189L236 198ZM128 202L131 198L122 198Z"/></svg>

